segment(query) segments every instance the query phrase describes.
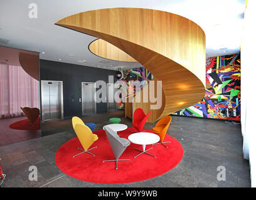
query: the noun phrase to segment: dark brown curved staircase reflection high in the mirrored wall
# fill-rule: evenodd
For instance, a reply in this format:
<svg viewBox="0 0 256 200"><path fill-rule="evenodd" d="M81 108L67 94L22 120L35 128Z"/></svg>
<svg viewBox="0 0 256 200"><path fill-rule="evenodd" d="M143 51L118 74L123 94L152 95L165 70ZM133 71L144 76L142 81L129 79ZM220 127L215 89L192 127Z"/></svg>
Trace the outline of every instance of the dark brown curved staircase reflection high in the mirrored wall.
<svg viewBox="0 0 256 200"><path fill-rule="evenodd" d="M19 53L19 64L31 77L39 81L38 54Z"/></svg>

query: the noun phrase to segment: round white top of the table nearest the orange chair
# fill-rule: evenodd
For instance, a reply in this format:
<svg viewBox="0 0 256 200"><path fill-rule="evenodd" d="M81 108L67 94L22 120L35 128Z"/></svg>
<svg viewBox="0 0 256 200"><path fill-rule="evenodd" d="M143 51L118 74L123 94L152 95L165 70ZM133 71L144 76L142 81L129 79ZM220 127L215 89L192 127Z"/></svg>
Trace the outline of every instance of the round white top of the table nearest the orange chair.
<svg viewBox="0 0 256 200"><path fill-rule="evenodd" d="M154 133L142 132L142 133L131 134L128 137L128 139L129 139L129 141L131 141L134 144L146 145L146 144L157 143L159 141L160 137Z"/></svg>

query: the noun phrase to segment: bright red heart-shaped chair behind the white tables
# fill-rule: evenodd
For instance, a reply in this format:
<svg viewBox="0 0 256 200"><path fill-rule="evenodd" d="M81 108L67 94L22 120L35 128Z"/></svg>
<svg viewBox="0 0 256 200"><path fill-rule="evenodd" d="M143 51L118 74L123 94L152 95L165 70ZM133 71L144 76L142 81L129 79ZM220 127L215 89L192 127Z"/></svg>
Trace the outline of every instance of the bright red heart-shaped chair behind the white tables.
<svg viewBox="0 0 256 200"><path fill-rule="evenodd" d="M151 114L151 111L149 113L147 113L147 115L146 115L141 108L137 108L134 111L132 126L138 132L142 132L143 127L144 127L144 125L145 125L145 123L147 121L147 118L149 118L150 114Z"/></svg>

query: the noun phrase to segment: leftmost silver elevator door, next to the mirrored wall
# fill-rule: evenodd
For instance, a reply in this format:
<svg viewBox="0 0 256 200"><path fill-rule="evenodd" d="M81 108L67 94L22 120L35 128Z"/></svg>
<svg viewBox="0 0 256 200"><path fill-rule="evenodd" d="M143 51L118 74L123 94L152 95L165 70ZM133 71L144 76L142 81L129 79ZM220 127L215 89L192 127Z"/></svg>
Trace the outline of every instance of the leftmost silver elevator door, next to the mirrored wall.
<svg viewBox="0 0 256 200"><path fill-rule="evenodd" d="M42 121L63 119L62 81L41 81Z"/></svg>

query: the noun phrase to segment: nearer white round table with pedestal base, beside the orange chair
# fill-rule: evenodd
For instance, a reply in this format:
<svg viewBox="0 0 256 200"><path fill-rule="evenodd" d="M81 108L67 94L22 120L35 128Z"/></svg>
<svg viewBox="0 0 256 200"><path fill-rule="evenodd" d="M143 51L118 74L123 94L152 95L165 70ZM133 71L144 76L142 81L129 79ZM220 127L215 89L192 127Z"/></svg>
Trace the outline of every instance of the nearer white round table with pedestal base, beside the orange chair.
<svg viewBox="0 0 256 200"><path fill-rule="evenodd" d="M146 145L147 144L154 144L154 143L157 143L159 142L160 140L160 137L157 136L157 134L154 134L154 133L147 133L147 132L142 132L142 133L134 133L134 134L131 134L129 137L128 137L129 141L131 141L132 143L134 144L141 144L142 145L142 149L143 151L141 151L140 149L136 149L137 151L141 151L140 154L137 154L137 156L140 156L141 154L143 153L146 153L146 154L149 154L147 153L147 151L149 151L150 149L152 148L149 148L145 151L146 149ZM150 156L153 156L154 158L156 158L156 156L152 155L152 154L149 154ZM137 156L134 156L134 158L136 158Z"/></svg>

